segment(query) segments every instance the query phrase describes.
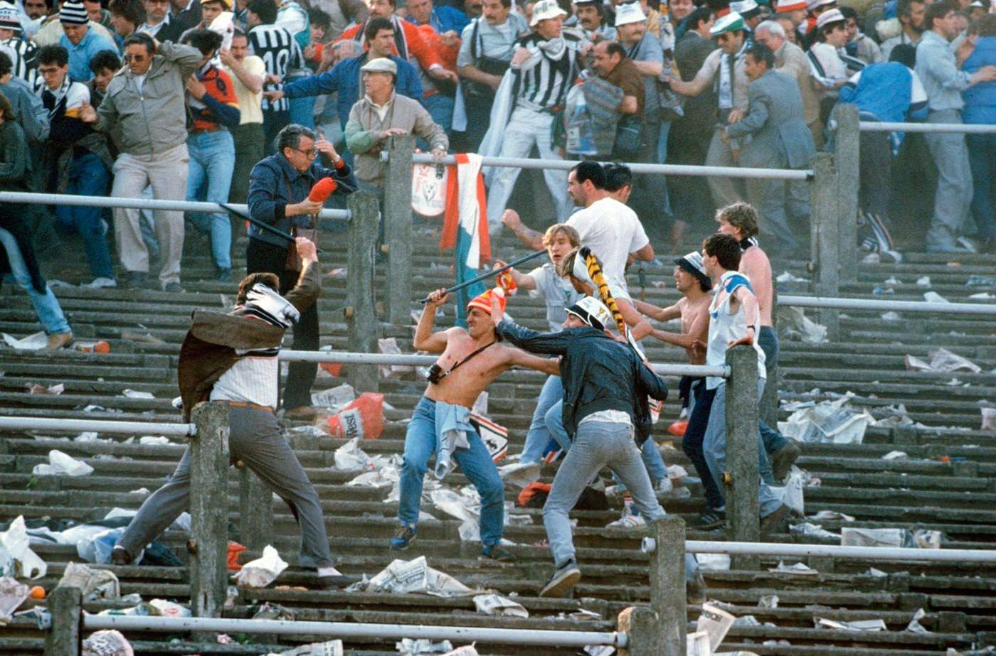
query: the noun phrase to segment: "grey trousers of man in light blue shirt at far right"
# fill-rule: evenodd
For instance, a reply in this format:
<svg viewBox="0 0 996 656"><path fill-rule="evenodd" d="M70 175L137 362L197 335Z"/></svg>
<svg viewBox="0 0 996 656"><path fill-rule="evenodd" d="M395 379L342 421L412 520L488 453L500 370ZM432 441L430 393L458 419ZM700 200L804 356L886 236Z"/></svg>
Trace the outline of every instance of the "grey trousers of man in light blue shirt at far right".
<svg viewBox="0 0 996 656"><path fill-rule="evenodd" d="M960 123L957 109L931 111L928 123ZM968 163L965 135L957 132L925 132L923 140L937 166L937 193L934 213L927 230L928 249L954 246L972 202L972 168Z"/></svg>

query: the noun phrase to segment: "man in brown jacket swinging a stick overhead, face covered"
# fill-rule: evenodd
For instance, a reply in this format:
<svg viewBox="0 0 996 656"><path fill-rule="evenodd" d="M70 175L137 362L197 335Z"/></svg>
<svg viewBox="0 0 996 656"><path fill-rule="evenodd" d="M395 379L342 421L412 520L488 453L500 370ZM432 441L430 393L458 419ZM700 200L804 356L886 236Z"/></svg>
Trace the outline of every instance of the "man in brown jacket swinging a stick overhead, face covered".
<svg viewBox="0 0 996 656"><path fill-rule="evenodd" d="M317 569L324 587L341 587L356 577L344 576L333 566L318 493L274 415L280 342L285 330L322 293L315 244L299 237L296 246L303 264L301 277L286 297L277 293L276 275L250 274L239 283L231 313L193 313L180 347L177 378L184 420L189 421L190 410L202 401L229 406L232 460L244 462L290 507L301 527L301 566ZM189 491L188 448L169 481L138 509L112 552L112 562L128 564L135 559L186 509Z"/></svg>

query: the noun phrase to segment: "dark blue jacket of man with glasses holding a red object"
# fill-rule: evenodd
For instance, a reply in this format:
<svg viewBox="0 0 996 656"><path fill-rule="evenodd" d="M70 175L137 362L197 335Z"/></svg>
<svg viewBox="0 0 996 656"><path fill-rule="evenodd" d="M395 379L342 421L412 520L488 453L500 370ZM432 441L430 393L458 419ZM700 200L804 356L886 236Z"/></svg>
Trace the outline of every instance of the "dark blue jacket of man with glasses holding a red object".
<svg viewBox="0 0 996 656"><path fill-rule="evenodd" d="M357 178L345 161L342 168L325 168L316 160L312 162L311 168L299 173L283 153L264 157L249 173L249 213L257 221L268 223L288 234L292 225L311 228L310 216L286 216L284 210L288 205L300 203L307 198L315 183L324 177L331 177L339 182L337 194L350 194L357 189ZM249 238L276 246L289 246L286 239L253 223L249 224Z"/></svg>

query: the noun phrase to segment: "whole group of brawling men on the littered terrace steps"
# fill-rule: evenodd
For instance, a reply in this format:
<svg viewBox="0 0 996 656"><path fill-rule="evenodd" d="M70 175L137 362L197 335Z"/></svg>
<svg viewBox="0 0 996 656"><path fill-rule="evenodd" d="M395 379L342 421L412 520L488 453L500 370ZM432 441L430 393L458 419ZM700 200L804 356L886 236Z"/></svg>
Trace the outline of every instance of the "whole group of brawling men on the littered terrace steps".
<svg viewBox="0 0 996 656"><path fill-rule="evenodd" d="M434 331L437 309L450 294L429 295L413 346L440 355L407 426L399 526L391 549L406 548L417 536L423 479L434 456L437 469L450 460L459 465L480 495L482 557L515 559L502 546L503 481L470 416L480 393L510 367L548 374L519 462L535 466L538 476L544 462L563 456L543 511L555 564L543 596L564 595L581 577L568 515L604 468L612 470L640 516L647 521L664 516L656 493L664 489L667 471L650 438L650 403L665 400L667 386L647 362L640 338L651 335L681 346L692 364L722 364L727 349L752 347L759 362L759 395L763 391L766 371L778 357L778 340L771 322L771 268L754 239L756 211L746 203L722 208L716 214L718 232L701 251L674 261L674 284L682 298L657 308L633 300L626 289L627 263L653 258L639 220L625 205L629 190L621 165L582 161L570 171L569 193L583 209L542 235L521 234L527 243L542 243L549 257L529 273L511 270L520 287L544 297L548 331L509 321L509 297L501 287L470 300L466 328ZM315 245L298 237L295 249L301 269L290 287L272 273L253 273L240 283L233 312L194 314L180 351L178 379L187 419L200 401L229 406L232 459L245 462L290 506L303 535L300 564L316 568L323 584L343 586L356 577L335 568L319 497L274 414L284 331L315 312L321 292ZM653 328L648 318L680 319L681 331ZM292 378L286 388L295 384ZM680 387L690 406L682 446L701 478L708 506L694 526L716 529L723 526L725 511L720 484L726 456L725 379L693 377ZM790 513L770 485L784 478L799 448L763 425L758 440L763 442L761 528L769 532ZM133 561L169 526L186 507L190 483L188 451L169 481L142 504L113 551L116 563ZM704 580L691 554L685 558L685 577L690 598L704 598Z"/></svg>

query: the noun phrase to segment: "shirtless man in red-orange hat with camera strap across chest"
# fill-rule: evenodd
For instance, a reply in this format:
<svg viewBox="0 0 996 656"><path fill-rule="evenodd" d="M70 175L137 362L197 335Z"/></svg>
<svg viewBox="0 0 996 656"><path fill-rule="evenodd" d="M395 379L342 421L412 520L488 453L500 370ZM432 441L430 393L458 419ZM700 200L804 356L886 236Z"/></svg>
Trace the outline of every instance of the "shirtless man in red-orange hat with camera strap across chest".
<svg viewBox="0 0 996 656"><path fill-rule="evenodd" d="M452 467L451 460L477 488L481 497L481 546L486 557L513 559L501 548L505 524L505 499L498 468L491 460L477 430L470 424L470 407L484 389L503 371L523 366L548 374L560 373L555 360L530 355L497 343L491 321L491 299L504 311L500 289L489 290L467 304L467 328L432 331L436 308L449 295L436 290L422 310L415 328L414 347L442 353L429 370L425 396L415 406L404 437L404 462L400 473L397 518L400 527L390 540L392 549L408 547L415 538L418 502L429 458L436 457L433 475L441 479Z"/></svg>

